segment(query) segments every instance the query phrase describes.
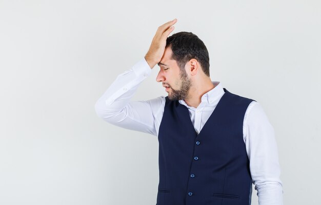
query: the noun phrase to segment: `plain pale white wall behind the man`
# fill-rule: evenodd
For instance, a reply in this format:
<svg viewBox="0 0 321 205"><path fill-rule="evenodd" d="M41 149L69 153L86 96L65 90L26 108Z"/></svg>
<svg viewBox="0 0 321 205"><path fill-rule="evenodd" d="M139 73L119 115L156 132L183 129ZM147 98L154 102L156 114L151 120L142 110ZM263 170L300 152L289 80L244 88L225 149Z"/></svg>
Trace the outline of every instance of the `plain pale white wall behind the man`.
<svg viewBox="0 0 321 205"><path fill-rule="evenodd" d="M157 138L106 123L94 104L173 18L173 33L206 44L213 81L263 106L284 203L319 204L317 0L0 0L0 204L156 203ZM133 100L167 95L158 70Z"/></svg>

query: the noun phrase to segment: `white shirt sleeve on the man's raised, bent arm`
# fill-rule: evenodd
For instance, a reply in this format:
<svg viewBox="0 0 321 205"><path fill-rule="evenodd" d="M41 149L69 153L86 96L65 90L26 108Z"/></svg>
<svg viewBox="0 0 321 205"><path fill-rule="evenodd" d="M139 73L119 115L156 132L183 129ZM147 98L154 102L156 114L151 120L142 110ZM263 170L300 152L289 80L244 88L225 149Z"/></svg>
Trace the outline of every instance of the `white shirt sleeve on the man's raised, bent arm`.
<svg viewBox="0 0 321 205"><path fill-rule="evenodd" d="M143 58L130 70L118 75L95 103L97 116L119 127L157 135L157 115L160 109L164 109L165 98L130 101L139 84L150 74L150 66Z"/></svg>

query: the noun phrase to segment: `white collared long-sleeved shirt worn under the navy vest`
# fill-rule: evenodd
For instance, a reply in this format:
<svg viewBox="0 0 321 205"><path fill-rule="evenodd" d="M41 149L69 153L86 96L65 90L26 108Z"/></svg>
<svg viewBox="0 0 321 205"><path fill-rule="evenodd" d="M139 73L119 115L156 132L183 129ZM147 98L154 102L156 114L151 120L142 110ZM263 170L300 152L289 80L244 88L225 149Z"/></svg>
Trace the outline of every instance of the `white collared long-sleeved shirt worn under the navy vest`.
<svg viewBox="0 0 321 205"><path fill-rule="evenodd" d="M118 75L96 102L97 115L116 126L158 136L165 97L160 96L147 101L130 100L139 84L150 74L150 66L143 58L130 70ZM198 107L188 106L184 100L179 100L179 103L188 108L197 133L203 128L224 94L221 82L212 81L212 83L216 86L202 96ZM280 168L274 129L262 106L256 101L252 101L246 110L243 140L250 161L251 177L257 190L258 203L282 205L283 187L279 178Z"/></svg>

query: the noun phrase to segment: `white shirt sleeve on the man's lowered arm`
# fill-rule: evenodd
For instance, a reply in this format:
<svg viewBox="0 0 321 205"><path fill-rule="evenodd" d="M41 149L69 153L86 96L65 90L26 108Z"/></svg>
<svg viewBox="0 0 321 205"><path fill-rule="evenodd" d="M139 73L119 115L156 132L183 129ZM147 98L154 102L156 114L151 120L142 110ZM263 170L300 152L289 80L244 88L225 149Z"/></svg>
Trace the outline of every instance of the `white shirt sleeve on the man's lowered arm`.
<svg viewBox="0 0 321 205"><path fill-rule="evenodd" d="M262 106L252 101L244 118L244 141L250 161L250 172L257 190L258 204L282 205L283 186L280 180L274 129Z"/></svg>

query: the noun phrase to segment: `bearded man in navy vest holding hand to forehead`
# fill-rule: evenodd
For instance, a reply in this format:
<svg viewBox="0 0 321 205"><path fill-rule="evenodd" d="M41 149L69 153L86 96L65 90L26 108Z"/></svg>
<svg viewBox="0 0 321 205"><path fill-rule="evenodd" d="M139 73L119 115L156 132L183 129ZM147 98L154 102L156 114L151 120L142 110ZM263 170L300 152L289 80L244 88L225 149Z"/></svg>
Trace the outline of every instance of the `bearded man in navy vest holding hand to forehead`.
<svg viewBox="0 0 321 205"><path fill-rule="evenodd" d="M283 204L274 130L262 107L211 81L196 35L160 26L144 59L119 75L96 102L97 115L158 136L157 205ZM168 97L130 101L158 64Z"/></svg>

